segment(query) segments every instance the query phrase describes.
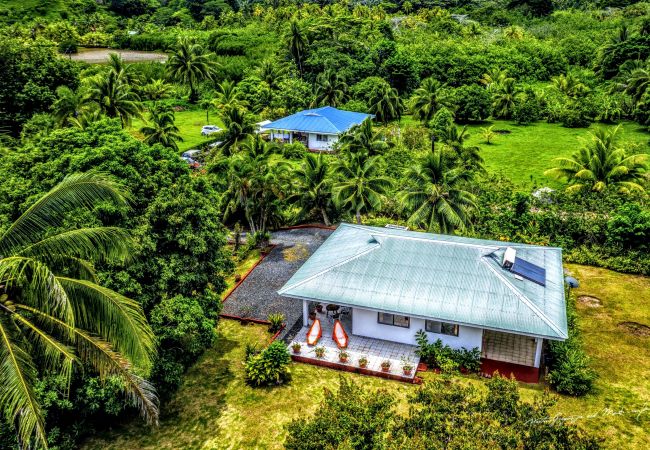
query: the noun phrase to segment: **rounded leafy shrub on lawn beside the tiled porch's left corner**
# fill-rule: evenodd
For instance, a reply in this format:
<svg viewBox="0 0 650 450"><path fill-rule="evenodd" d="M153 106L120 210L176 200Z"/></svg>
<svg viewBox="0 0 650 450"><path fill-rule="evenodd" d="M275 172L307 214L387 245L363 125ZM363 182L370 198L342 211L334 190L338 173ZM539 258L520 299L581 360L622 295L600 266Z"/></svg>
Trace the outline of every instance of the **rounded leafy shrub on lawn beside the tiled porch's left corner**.
<svg viewBox="0 0 650 450"><path fill-rule="evenodd" d="M253 386L279 385L290 379L289 349L281 341L274 341L246 361L246 380Z"/></svg>

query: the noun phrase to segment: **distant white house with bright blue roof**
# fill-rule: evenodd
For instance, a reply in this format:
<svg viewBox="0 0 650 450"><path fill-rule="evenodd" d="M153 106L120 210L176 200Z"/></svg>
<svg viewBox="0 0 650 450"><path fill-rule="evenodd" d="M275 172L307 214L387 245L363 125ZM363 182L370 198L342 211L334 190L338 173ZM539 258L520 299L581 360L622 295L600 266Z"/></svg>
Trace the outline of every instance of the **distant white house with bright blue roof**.
<svg viewBox="0 0 650 450"><path fill-rule="evenodd" d="M361 124L370 114L343 111L331 106L307 109L261 126L271 139L302 142L309 150L329 151L341 134Z"/></svg>

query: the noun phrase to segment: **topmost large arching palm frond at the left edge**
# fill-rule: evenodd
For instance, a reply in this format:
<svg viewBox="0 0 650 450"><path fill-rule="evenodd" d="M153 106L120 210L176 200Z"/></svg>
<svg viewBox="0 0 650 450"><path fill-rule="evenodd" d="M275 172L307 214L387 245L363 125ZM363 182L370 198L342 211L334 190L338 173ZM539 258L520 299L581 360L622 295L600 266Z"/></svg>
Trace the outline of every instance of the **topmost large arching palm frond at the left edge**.
<svg viewBox="0 0 650 450"><path fill-rule="evenodd" d="M61 225L65 215L75 208L92 209L99 201L127 204L123 187L109 175L87 172L66 177L34 203L0 237L0 254L30 245L36 237Z"/></svg>

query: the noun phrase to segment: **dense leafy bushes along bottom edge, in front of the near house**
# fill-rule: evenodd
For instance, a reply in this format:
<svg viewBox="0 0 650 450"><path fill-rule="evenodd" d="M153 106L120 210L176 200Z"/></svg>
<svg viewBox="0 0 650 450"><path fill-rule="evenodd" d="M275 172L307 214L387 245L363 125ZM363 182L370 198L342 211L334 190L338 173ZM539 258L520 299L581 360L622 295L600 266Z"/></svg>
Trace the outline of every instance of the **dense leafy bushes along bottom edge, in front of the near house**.
<svg viewBox="0 0 650 450"><path fill-rule="evenodd" d="M514 381L495 377L487 390L436 380L409 399L405 417L394 399L341 379L337 392L325 391L314 417L288 427L286 447L371 448L557 448L597 449L598 440L575 425L554 420L548 394L534 403L519 398Z"/></svg>

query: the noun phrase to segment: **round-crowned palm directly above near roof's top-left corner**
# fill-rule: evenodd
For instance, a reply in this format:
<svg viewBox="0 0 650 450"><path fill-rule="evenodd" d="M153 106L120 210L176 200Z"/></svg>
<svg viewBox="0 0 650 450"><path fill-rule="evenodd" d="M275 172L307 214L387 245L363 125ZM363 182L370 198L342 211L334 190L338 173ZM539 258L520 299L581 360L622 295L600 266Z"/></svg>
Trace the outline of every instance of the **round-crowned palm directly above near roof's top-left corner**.
<svg viewBox="0 0 650 450"><path fill-rule="evenodd" d="M378 209L382 196L392 185L389 178L378 172L379 156L367 156L365 152L350 154L336 165L340 177L332 188L334 204L338 208L354 212L361 224L361 213Z"/></svg>

